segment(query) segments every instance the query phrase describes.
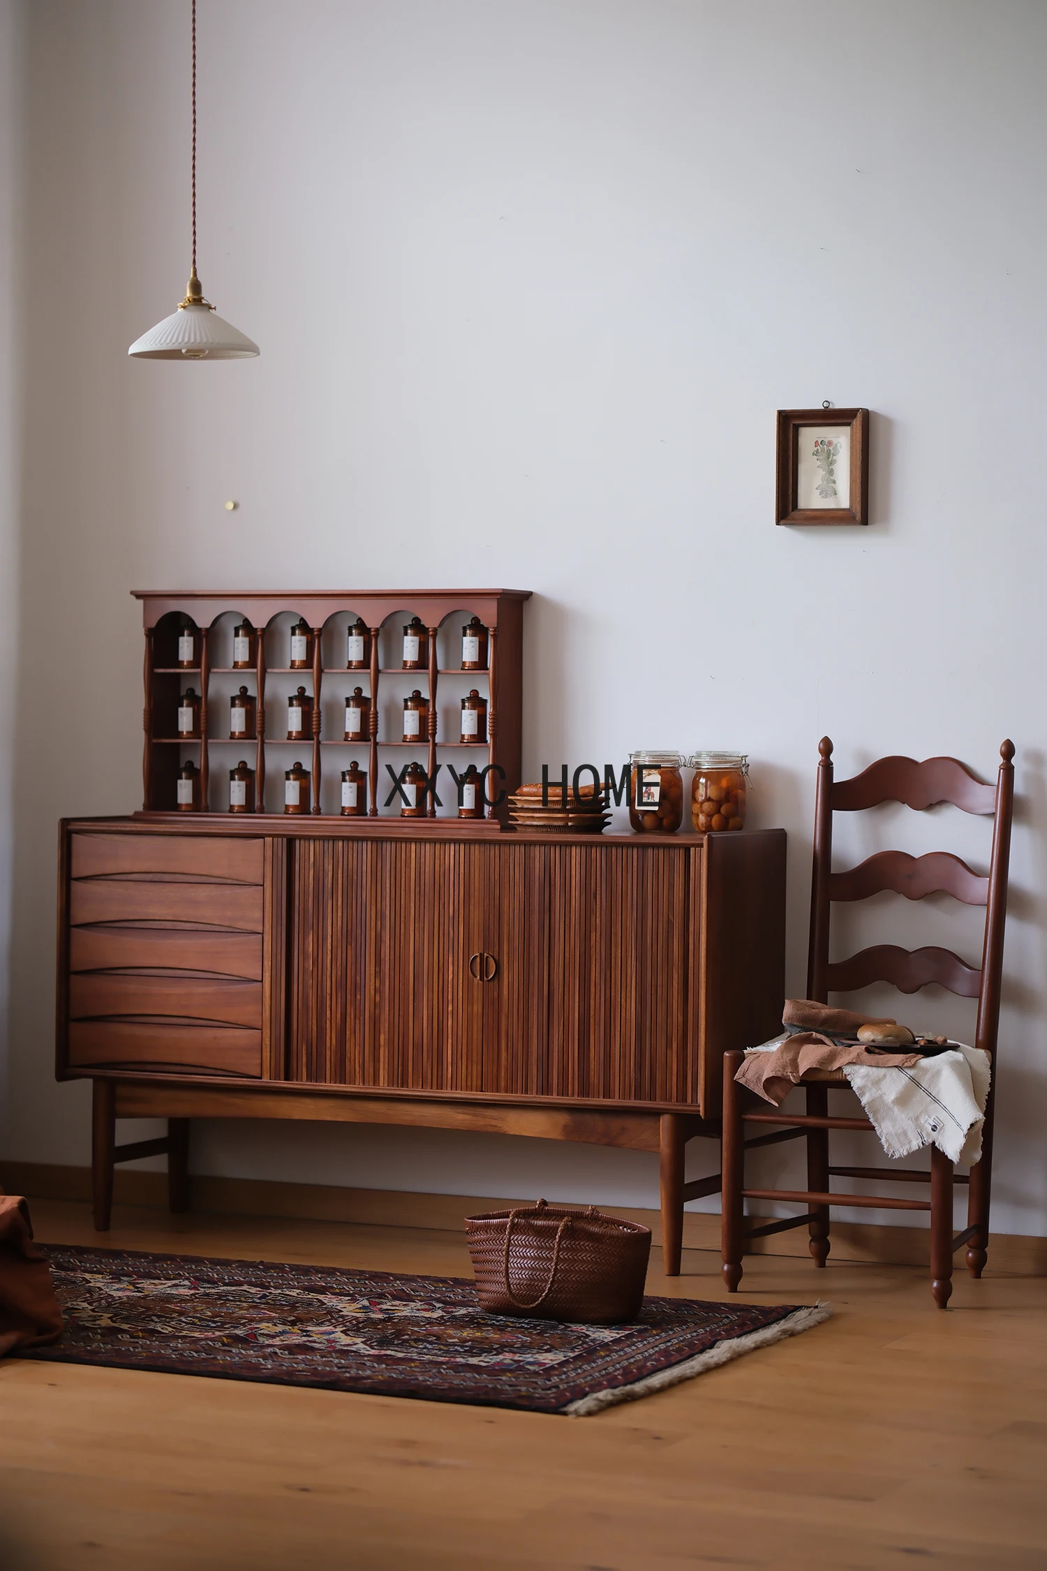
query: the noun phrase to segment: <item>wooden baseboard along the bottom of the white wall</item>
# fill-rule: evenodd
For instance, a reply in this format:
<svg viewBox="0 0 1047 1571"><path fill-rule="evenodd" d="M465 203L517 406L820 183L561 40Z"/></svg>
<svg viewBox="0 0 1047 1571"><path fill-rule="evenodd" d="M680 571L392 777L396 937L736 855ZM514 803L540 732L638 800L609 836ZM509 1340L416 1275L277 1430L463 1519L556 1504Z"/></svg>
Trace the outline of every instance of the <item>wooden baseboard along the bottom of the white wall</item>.
<svg viewBox="0 0 1047 1571"><path fill-rule="evenodd" d="M38 1200L91 1199L91 1169L63 1167L55 1163L0 1161L0 1186L8 1194ZM408 1189L347 1189L341 1185L276 1183L268 1178L190 1180L192 1208L224 1216L281 1216L314 1222L356 1222L369 1227L424 1227L460 1233L465 1218L477 1211L504 1211L532 1205L505 1196L418 1194ZM166 1174L116 1169L116 1205L166 1207ZM554 1197L549 1197L554 1203ZM573 1203L573 1202L568 1202ZM658 1211L614 1207L615 1216L642 1222L661 1243ZM720 1219L700 1211L684 1211L684 1249L720 1247ZM834 1222L832 1252L837 1260L863 1260L882 1265L926 1265L928 1233L921 1227L884 1227L876 1222ZM760 1238L753 1254L807 1255L807 1238L779 1233ZM997 1271L1019 1276L1047 1276L1047 1238L1022 1233L994 1233L989 1258Z"/></svg>

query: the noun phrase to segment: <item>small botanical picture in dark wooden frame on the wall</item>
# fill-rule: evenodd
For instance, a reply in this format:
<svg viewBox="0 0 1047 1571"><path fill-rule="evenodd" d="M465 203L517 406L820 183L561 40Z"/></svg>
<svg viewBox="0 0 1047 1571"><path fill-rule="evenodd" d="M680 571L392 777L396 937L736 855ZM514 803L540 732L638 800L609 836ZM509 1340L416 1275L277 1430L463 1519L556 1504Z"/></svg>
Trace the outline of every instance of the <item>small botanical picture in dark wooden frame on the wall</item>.
<svg viewBox="0 0 1047 1571"><path fill-rule="evenodd" d="M780 408L775 523L868 523L870 412Z"/></svg>

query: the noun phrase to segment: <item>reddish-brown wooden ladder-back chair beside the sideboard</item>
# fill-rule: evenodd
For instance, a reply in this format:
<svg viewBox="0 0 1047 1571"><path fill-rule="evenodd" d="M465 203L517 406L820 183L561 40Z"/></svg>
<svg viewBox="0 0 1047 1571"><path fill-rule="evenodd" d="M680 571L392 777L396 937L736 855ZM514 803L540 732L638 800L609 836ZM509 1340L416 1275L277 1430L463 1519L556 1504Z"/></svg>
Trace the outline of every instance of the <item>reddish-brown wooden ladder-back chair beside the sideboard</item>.
<svg viewBox="0 0 1047 1571"><path fill-rule="evenodd" d="M1003 924L1006 916L1008 861L1011 851L1011 815L1014 804L1014 745L1000 746L997 784L986 786L956 759L890 757L871 764L862 775L848 781L834 781L832 742L823 737L818 745L818 786L815 798L815 855L812 870L810 946L807 957L807 996L821 1004L829 1002L829 993L851 993L874 982L887 982L901 993L915 993L929 982L937 982L950 993L978 1001L975 1046L984 1048L990 1057L992 1079L981 1137L981 1159L970 1169L970 1177L956 1175L953 1163L931 1147L931 1170L898 1167L832 1167L829 1164L829 1131L873 1131L868 1119L829 1117L829 1087L848 1087L841 1070L812 1070L804 1075L807 1112L788 1114L760 1111L752 1092L744 1090L735 1073L742 1062L741 1053L724 1056L724 1203L722 1203L722 1255L724 1280L735 1293L742 1274L746 1243L769 1233L786 1232L807 1225L810 1252L816 1266L824 1266L829 1255L829 1208L837 1205L868 1210L903 1210L931 1213L931 1291L939 1309L945 1309L953 1291L953 1254L967 1244L967 1268L972 1277L980 1277L986 1265L989 1246L989 1199L992 1185L992 1109L997 1079L997 1031L1000 1021L1000 983L1003 974ZM925 856L909 856L906 851L879 851L859 867L832 872L832 815L834 812L860 812L884 801L904 803L923 812L937 803L951 803L964 812L994 815L992 853L989 875L980 877L967 862L950 851L929 851ZM981 950L981 968L967 965L951 949L899 949L895 944L876 944L862 949L846 960L829 960L829 916L834 902L865 900L890 889L907 900L921 900L928 894L945 892L965 905L986 908L986 925ZM904 1049L901 1049L904 1051ZM746 1126L775 1125L774 1133L746 1139ZM780 1141L807 1139L807 1189L749 1189L744 1181L746 1150L755 1145L774 1145ZM929 1183L929 1200L882 1199L868 1194L830 1192L830 1178L865 1178L895 1183ZM953 1183L969 1185L967 1227L953 1236ZM769 1222L753 1219L757 1225L746 1227L746 1200L785 1200L807 1207L801 1216L777 1218Z"/></svg>

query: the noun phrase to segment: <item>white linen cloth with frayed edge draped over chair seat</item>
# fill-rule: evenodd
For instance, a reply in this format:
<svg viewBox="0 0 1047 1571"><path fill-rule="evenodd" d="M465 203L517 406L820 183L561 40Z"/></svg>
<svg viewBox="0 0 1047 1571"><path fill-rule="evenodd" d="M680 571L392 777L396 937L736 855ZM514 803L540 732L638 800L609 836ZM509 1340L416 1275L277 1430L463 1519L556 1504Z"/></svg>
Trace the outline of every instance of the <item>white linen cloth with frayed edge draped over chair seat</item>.
<svg viewBox="0 0 1047 1571"><path fill-rule="evenodd" d="M783 1031L746 1051L771 1053L790 1035ZM845 1064L843 1073L888 1156L912 1156L925 1145L937 1145L959 1167L981 1156L990 1078L989 1054L981 1048L958 1042L912 1068Z"/></svg>

